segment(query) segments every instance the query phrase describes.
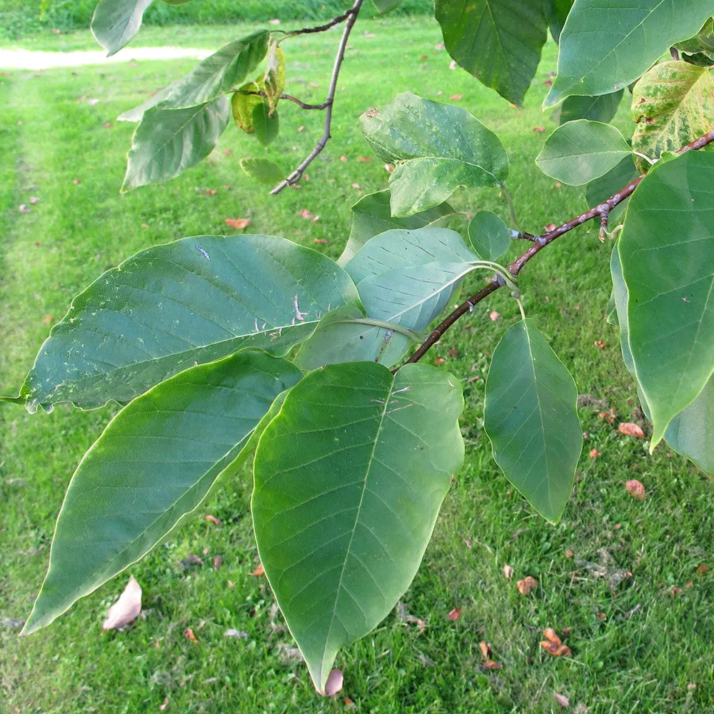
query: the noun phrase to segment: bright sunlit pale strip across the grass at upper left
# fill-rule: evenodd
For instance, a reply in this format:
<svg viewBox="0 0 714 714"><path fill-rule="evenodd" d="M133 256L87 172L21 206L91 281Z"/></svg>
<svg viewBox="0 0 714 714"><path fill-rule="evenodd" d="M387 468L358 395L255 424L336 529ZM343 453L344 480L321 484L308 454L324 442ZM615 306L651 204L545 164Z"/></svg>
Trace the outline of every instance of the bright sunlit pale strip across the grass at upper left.
<svg viewBox="0 0 714 714"><path fill-rule="evenodd" d="M113 64L138 59L179 59L193 57L206 59L207 49L182 47L131 47L111 57L101 50L86 52L35 52L28 49L0 49L1 69L52 69L53 67L79 67L85 64Z"/></svg>

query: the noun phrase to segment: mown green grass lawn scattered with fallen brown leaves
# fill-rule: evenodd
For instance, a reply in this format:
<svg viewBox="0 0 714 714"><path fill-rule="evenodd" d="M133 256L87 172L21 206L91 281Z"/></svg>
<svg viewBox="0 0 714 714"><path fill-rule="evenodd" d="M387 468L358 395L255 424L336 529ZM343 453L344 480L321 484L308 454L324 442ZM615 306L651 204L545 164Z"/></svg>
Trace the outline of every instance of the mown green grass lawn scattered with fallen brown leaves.
<svg viewBox="0 0 714 714"><path fill-rule="evenodd" d="M135 44L217 47L245 30L151 28ZM337 37L330 32L286 43L287 91L322 101ZM141 248L235 233L224 219L250 218L242 232L285 236L338 256L351 204L387 179L377 159L358 161L371 151L356 119L400 91L446 100L461 94L459 106L498 133L511 157L508 185L524 229L538 233L545 223L580 213L583 191L557 188L533 164L555 126L540 111L543 83L555 69L554 46L518 111L465 72L451 71L447 54L436 49L440 40L427 18L358 25L338 85L333 140L308 169L309 181L278 197L248 181L238 159L264 154L288 172L320 136L318 112L285 103L281 136L267 151L229 128L210 161L163 186L120 196L134 125L116 116L194 63L3 73L0 391L16 392L72 296ZM89 34L41 36L24 46L60 49L60 43L94 49ZM627 110L620 109L619 121L630 130ZM546 131L534 131L538 126ZM29 205L31 196L39 201L21 213L18 206ZM468 213L508 216L494 191L463 192L453 203ZM319 219L301 218L303 208ZM332 700L314 693L266 580L251 575L257 553L247 472L219 483L193 520L131 568L144 588L145 610L129 631L101 630L124 588L121 575L49 629L16 638L9 620L31 609L66 484L112 411L56 408L29 416L1 405L0 702L6 710L526 714L560 710L554 693L570 698L577 714L713 710L713 485L666 447L650 457L643 441L618 433L618 421L633 421L637 402L617 330L604 319L612 245L600 243L594 228L553 243L521 277L526 311L572 371L578 391L606 403L580 410L587 438L563 519L550 526L531 511L493 462L483 433L489 355L518 319L514 301L499 291L427 357L445 359L444 368L463 380L467 443L466 463L403 598L406 610L428 626L420 632L395 613L345 648L337 660L345 685ZM511 248L514 257L523 245ZM465 289L478 286L480 278L468 279ZM502 315L497 321L489 319L493 310ZM604 348L595 346L600 340ZM614 424L598 418L609 408ZM593 448L602 456L588 458ZM625 492L629 478L645 485L644 501ZM221 519L221 527L204 520L206 514ZM203 566L184 565L189 554L203 558ZM211 567L215 555L223 558L218 570ZM698 572L706 564L711 570ZM513 568L511 580L504 565ZM526 575L539 585L523 596L516 580ZM453 608L461 608L456 622L448 618ZM572 656L555 658L540 647L548 626L559 633L570 628ZM186 628L197 642L184 636ZM228 628L245 636L226 637ZM491 643L502 669L481 667L481 640Z"/></svg>

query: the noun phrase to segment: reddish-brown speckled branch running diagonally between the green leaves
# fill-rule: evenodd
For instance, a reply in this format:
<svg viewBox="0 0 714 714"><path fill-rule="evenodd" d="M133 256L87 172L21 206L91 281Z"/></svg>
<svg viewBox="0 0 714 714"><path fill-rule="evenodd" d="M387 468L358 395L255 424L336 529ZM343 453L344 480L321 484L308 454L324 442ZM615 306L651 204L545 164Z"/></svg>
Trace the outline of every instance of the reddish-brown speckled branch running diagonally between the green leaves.
<svg viewBox="0 0 714 714"><path fill-rule="evenodd" d="M708 131L708 133L704 134L704 136L700 136L699 139L695 139L695 141L692 141L691 144L683 146L676 153L684 154L685 151L696 151L697 149L703 149L705 146L711 144L713 141L714 129ZM565 233L568 233L568 231L572 231L573 228L582 226L583 223L586 223L587 221L592 221L593 218L600 218L600 225L602 226L603 218L605 221L607 221L607 216L610 211L612 211L612 209L615 208L618 203L622 203L625 198L629 198L630 196L632 196L633 192L635 191L635 188L639 186L640 181L642 181L643 178L645 178L645 174L642 174L642 176L638 176L637 178L635 178L634 181L628 183L627 186L621 188L620 191L618 191L617 193L613 193L613 195L610 196L607 201L603 201L603 203L600 203L598 206L590 208L590 210L585 211L585 213L580 213L580 216L570 218L570 221L568 221L567 223L563 223L562 226L558 226L558 228L555 228L553 231L543 233L542 236L536 236L535 240L533 241L533 245L528 248L528 250L523 253L522 256L517 258L516 261L513 261L513 263L508 266L508 272L511 273L514 277L517 277L518 273L523 270L523 266L525 266L526 263L528 263L528 261L530 261L536 253L539 253L541 250L543 250L545 246L547 246L549 243L553 243L553 241L555 241L555 238L563 236ZM480 291L478 291L478 293L472 295L470 298L468 298L468 300L461 303L461 305L459 305L458 308L456 308L456 310L454 310L445 320L441 321L441 323L439 323L438 326L434 328L434 330L431 332L428 338L426 338L426 340L421 344L417 351L413 353L410 358L408 358L405 364L418 362L429 351L429 349L433 347L442 338L443 334L448 330L448 328L453 325L453 323L458 320L458 318L460 318L467 312L473 310L473 306L480 303L484 298L487 298L489 295L491 295L491 293L498 290L498 288L500 288L504 284L505 283L503 281L503 278L494 275L491 278L491 282L488 283L485 288L482 288Z"/></svg>

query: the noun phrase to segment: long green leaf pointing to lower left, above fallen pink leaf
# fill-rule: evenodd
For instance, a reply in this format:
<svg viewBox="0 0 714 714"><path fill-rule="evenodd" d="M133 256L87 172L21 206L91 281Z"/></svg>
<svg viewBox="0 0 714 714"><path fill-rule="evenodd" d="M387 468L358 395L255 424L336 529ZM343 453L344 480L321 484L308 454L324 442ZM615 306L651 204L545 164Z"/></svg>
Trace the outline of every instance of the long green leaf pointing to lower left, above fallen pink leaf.
<svg viewBox="0 0 714 714"><path fill-rule="evenodd" d="M236 468L273 400L301 377L284 359L243 351L181 372L122 409L72 477L23 634L49 625L163 540L226 468Z"/></svg>

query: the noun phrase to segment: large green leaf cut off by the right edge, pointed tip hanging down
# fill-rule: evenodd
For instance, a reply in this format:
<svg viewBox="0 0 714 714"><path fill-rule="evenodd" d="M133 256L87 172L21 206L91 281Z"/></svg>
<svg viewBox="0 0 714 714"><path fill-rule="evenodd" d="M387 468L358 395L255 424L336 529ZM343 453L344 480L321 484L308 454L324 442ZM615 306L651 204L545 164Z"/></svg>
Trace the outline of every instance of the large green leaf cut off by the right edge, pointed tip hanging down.
<svg viewBox="0 0 714 714"><path fill-rule="evenodd" d="M618 241L634 370L653 422L650 450L714 372L713 181L710 154L658 164L630 198Z"/></svg>

